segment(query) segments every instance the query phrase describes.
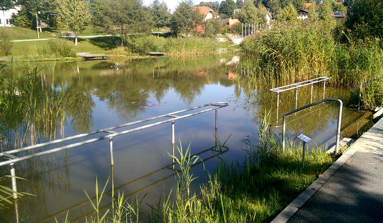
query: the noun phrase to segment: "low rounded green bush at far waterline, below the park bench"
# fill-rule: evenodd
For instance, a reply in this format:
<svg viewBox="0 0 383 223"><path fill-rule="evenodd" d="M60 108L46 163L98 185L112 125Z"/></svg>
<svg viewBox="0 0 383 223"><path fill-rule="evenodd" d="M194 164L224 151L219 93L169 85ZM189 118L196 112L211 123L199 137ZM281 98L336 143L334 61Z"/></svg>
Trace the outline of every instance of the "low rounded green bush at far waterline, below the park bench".
<svg viewBox="0 0 383 223"><path fill-rule="evenodd" d="M76 51L68 40L49 40L35 50L38 57L76 57Z"/></svg>

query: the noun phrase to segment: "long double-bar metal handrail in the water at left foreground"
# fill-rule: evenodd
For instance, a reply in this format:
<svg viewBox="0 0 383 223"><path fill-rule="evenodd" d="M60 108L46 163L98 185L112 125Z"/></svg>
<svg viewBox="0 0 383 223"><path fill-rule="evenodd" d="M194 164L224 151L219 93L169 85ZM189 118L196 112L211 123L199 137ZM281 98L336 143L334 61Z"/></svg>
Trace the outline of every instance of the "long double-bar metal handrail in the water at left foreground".
<svg viewBox="0 0 383 223"><path fill-rule="evenodd" d="M173 149L173 155L174 155L174 121L179 120L179 119L184 119L184 118L187 118L187 117L191 117L191 116L194 116L194 115L198 115L198 114L201 114L201 113L205 113L205 112L208 112L208 111L212 111L212 110L216 110L216 146L215 147L217 148L217 128L218 128L217 127L217 123L218 123L218 118L217 118L218 110L217 109L222 108L222 107L226 107L228 105L230 105L230 103L228 103L228 102L214 102L214 103L204 104L204 105L200 105L200 106L197 106L197 107L193 107L193 108L189 108L189 109L184 109L184 110L179 110L179 111L167 113L167 114L164 114L164 115L148 118L148 119L145 119L145 120L139 120L139 121L136 121L136 122L121 124L121 125L117 125L117 126L114 126L114 127L104 128L104 129L100 129L100 130L96 130L96 131L92 131L92 132L88 132L88 133L83 133L83 134L78 134L78 135L74 135L74 136L70 136L70 137L66 137L66 138L62 138L62 139L57 139L57 140L53 140L53 141L46 142L46 143L40 143L40 144L36 144L36 145L33 145L33 146L28 146L28 147L24 147L24 148L20 148L20 149L13 149L13 150L9 150L9 151L6 151L6 152L1 152L0 153L0 158L1 157L5 157L5 158L8 158L8 160L0 162L0 167L1 166L5 166L5 165L10 165L11 176L15 176L14 164L16 162L20 162L20 161L23 161L23 160L35 158L35 157L42 156L42 155L47 155L47 154L50 154L50 153L53 153L53 152L57 152L57 151L61 151L61 150L65 150L65 149L79 147L79 146L82 146L82 145L85 145L85 144L97 142L97 141L104 140L104 139L109 139L110 165L114 165L114 161L113 161L113 142L112 142L113 141L113 137L119 136L119 135L123 135L123 134L127 134L127 133L134 132L134 131L138 131L138 130L141 130L141 129L153 127L153 126L156 126L156 125L159 125L159 124L169 123L169 122L171 122L171 124L172 124L172 149ZM191 113L191 114L177 116L177 114L184 113L184 112L187 112L187 111L192 111L192 110L203 108L203 107L207 107L207 106L215 106L215 107L209 108L209 109L206 109L206 110L203 110L203 111L194 112L194 113ZM157 123L153 123L153 124L146 124L146 125L143 125L143 126L139 126L139 127L136 127L136 128L132 128L132 129L128 129L128 130L124 130L124 131L120 131L120 132L112 131L112 130L115 130L115 129L118 129L118 128L121 128L121 127L126 127L126 126L133 125L133 124L140 124L140 123L144 123L144 122L148 122L148 121L152 121L152 120L156 120L156 119L160 119L160 118L170 118L170 119L165 120L165 121L160 121L160 122L157 122ZM45 151L42 151L42 152L37 152L37 153L30 154L30 155L22 156L22 157L16 157L15 155L12 155L13 153L17 153L17 152L21 152L21 151L26 151L26 150L30 150L30 149L35 149L35 148L40 148L40 147L44 147L44 146L48 146L48 145L52 145L52 144L56 144L56 143L66 142L66 141L69 141L69 140L73 140L73 139L77 139L77 138L81 138L81 137L85 137L85 136L90 136L90 135L94 135L94 134L101 133L101 132L109 133L109 135L102 136L102 137L97 137L97 138L93 138L93 139L89 139L89 140L84 140L82 142L72 143L72 144L69 144L69 145L66 145L66 146L62 146L62 147L58 147L58 148L55 148L55 149L48 149L48 150L45 150ZM11 177L11 180L12 180L12 190L17 192L16 178L15 177ZM17 195L14 193L13 197L17 198Z"/></svg>

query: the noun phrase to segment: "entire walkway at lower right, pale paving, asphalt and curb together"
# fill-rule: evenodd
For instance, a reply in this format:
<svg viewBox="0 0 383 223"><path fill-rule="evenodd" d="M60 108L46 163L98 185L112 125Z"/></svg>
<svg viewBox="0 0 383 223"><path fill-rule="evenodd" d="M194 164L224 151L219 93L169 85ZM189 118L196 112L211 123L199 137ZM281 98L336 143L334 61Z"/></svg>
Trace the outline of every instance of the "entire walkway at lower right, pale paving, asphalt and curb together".
<svg viewBox="0 0 383 223"><path fill-rule="evenodd" d="M383 119L272 223L383 222Z"/></svg>

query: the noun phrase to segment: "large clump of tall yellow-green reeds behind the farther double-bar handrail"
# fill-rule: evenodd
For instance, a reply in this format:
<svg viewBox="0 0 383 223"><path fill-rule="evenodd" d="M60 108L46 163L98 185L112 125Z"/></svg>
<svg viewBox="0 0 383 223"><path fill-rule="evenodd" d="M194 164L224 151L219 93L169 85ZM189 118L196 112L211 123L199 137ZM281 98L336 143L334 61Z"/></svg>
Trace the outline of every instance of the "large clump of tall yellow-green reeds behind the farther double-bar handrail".
<svg viewBox="0 0 383 223"><path fill-rule="evenodd" d="M243 52L256 75L273 80L301 81L331 75L336 45L323 22L278 23L267 32L246 38Z"/></svg>

